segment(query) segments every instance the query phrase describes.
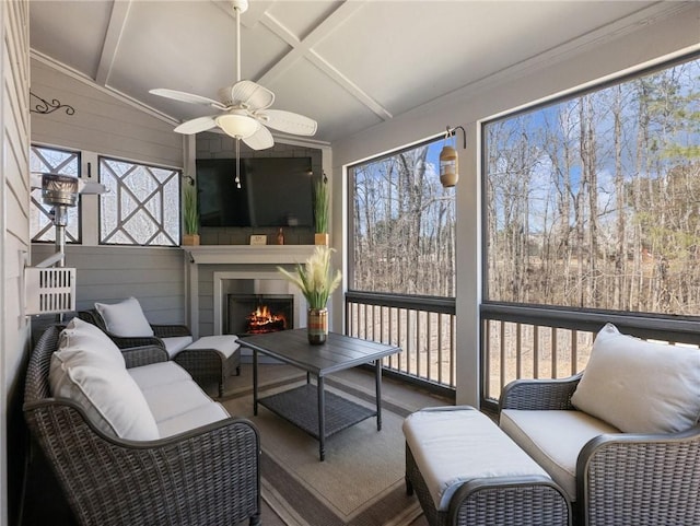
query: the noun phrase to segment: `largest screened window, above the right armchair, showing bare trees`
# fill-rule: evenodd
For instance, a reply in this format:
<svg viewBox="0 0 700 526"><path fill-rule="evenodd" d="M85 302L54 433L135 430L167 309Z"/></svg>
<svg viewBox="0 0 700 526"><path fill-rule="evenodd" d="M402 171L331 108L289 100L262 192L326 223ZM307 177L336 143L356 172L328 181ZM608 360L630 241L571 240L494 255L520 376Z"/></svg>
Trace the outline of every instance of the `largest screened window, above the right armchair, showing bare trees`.
<svg viewBox="0 0 700 526"><path fill-rule="evenodd" d="M485 125L489 301L700 315L700 60Z"/></svg>

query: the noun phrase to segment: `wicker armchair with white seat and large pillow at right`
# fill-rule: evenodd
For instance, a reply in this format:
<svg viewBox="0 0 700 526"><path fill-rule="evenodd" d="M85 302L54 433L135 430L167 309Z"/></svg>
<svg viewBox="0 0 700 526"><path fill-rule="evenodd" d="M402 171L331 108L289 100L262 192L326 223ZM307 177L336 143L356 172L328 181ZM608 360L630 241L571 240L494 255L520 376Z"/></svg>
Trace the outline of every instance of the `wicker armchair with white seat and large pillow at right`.
<svg viewBox="0 0 700 526"><path fill-rule="evenodd" d="M515 381L500 426L574 503L576 524L700 524L700 351L607 325L586 370Z"/></svg>

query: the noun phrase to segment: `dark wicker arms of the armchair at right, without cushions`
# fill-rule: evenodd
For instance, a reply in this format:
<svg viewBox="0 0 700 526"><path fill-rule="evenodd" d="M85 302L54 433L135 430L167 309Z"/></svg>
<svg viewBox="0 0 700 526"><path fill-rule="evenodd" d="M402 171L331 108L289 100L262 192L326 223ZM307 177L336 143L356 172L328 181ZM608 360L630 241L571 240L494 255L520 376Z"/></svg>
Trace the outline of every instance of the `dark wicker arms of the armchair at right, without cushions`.
<svg viewBox="0 0 700 526"><path fill-rule="evenodd" d="M500 409L573 410L581 379L509 384ZM700 425L669 434L603 434L576 461L576 524L681 526L700 524Z"/></svg>

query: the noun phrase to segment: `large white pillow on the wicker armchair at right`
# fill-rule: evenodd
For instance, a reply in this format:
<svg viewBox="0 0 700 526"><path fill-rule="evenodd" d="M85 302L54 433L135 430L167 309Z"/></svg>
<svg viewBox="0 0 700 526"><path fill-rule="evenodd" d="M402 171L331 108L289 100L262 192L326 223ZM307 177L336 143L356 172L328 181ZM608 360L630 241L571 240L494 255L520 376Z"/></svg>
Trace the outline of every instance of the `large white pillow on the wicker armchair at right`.
<svg viewBox="0 0 700 526"><path fill-rule="evenodd" d="M700 350L652 343L607 324L571 398L625 433L673 433L700 419Z"/></svg>

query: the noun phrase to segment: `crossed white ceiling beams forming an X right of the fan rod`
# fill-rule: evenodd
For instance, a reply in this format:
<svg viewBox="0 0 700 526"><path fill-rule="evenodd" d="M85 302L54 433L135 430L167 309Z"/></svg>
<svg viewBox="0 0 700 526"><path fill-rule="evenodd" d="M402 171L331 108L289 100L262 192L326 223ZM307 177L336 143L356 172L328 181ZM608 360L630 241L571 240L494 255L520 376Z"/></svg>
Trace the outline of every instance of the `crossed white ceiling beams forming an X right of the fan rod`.
<svg viewBox="0 0 700 526"><path fill-rule="evenodd" d="M288 44L292 49L284 57L282 57L282 59L277 61L270 69L268 69L259 79L257 79L257 82L262 85L271 84L277 78L282 75L288 69L292 68L300 60L308 60L320 71L326 73L330 79L332 79L343 90L346 90L358 101L364 104L381 119L390 119L393 116L384 106L372 98L370 94L368 94L368 92L362 90L354 82L350 81L350 79L348 79L337 68L335 68L330 62L320 57L320 55L318 55L313 49L316 44L330 35L334 31L336 31L364 3L364 1L343 2L328 17L320 22L305 38L301 40L277 19L266 12L265 15L260 17L260 23L268 30L270 30L280 39L282 39L285 44Z"/></svg>

